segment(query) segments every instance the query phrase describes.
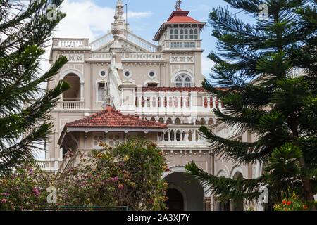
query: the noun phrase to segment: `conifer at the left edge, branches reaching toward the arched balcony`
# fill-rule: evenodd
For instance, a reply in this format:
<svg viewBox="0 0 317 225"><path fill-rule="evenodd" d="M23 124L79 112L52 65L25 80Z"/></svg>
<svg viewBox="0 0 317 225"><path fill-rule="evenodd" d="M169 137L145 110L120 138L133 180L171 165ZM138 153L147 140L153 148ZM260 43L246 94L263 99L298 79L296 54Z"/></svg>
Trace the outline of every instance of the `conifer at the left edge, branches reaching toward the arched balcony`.
<svg viewBox="0 0 317 225"><path fill-rule="evenodd" d="M54 1L56 7L61 3ZM0 174L32 160L51 132L48 113L69 85L59 82L46 91L40 84L54 77L67 59L59 58L47 72L39 63L65 16L44 0L0 1Z"/></svg>

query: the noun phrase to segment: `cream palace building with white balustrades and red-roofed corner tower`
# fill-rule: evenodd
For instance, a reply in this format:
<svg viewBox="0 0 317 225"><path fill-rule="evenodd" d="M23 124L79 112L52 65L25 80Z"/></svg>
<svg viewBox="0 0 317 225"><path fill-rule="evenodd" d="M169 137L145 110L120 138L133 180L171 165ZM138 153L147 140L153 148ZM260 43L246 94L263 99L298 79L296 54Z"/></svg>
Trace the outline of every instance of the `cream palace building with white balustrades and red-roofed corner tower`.
<svg viewBox="0 0 317 225"><path fill-rule="evenodd" d="M60 80L71 86L51 112L55 132L45 146L47 172L64 171L78 162L79 151L121 143L130 136L155 141L163 150L171 172L163 174L169 184L170 210L247 210L244 203L217 203L198 181L185 183L185 164L194 161L215 176L232 179L256 178L261 165L237 165L213 154L199 135L201 124L219 136L240 141L256 140L253 134L235 134L220 126L214 108L220 99L201 87L201 29L206 23L194 20L189 11L175 11L154 34L157 45L134 34L123 18L118 0L111 31L100 39L54 38L50 63L66 56L51 89ZM68 151L73 158L63 158ZM261 210L261 205L253 205Z"/></svg>

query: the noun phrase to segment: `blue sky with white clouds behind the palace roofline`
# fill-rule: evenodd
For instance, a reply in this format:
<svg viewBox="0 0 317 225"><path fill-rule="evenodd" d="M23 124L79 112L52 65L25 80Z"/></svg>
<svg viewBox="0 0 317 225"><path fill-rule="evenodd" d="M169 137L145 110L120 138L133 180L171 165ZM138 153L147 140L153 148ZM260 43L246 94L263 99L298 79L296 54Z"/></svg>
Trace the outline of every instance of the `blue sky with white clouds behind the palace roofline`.
<svg viewBox="0 0 317 225"><path fill-rule="evenodd" d="M137 36L157 44L152 39L162 23L166 22L175 10L176 0L123 0L123 5L125 4L128 4L130 30ZM207 22L213 8L227 5L223 0L183 0L180 8L190 11L189 16L195 20ZM61 11L66 13L66 18L58 25L53 37L89 38L92 42L111 30L115 7L116 0L64 0ZM243 13L240 14L243 16ZM205 77L208 77L213 67L213 62L207 56L216 49L216 39L211 37L211 31L212 27L207 24L201 32L202 48L205 49L202 56L202 73ZM49 49L44 56L43 70L49 69L48 60Z"/></svg>

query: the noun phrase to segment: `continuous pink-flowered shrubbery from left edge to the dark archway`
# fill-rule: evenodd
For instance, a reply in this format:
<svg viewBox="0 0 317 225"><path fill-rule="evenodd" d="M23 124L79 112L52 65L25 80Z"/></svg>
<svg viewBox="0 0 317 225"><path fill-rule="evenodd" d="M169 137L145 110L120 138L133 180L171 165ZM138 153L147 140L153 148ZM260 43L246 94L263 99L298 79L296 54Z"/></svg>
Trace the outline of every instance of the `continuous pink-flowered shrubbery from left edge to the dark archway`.
<svg viewBox="0 0 317 225"><path fill-rule="evenodd" d="M168 172L166 159L156 143L130 139L115 147L103 146L90 153L68 153L75 167L44 174L34 165L18 167L0 176L0 210L40 210L53 207L118 207L129 210L165 210ZM49 187L57 191L57 203L47 203Z"/></svg>

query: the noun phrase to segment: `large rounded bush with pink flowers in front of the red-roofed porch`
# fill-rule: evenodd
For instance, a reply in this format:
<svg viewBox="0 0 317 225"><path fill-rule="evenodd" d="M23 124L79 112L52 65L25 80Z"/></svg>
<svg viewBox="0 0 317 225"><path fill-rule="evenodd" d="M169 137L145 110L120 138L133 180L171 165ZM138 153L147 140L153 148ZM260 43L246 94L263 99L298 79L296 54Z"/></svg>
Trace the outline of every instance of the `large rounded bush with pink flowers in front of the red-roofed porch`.
<svg viewBox="0 0 317 225"><path fill-rule="evenodd" d="M103 149L80 153L79 165L54 176L58 206L165 209L167 184L161 175L169 169L156 143L130 139L115 147L99 146Z"/></svg>

